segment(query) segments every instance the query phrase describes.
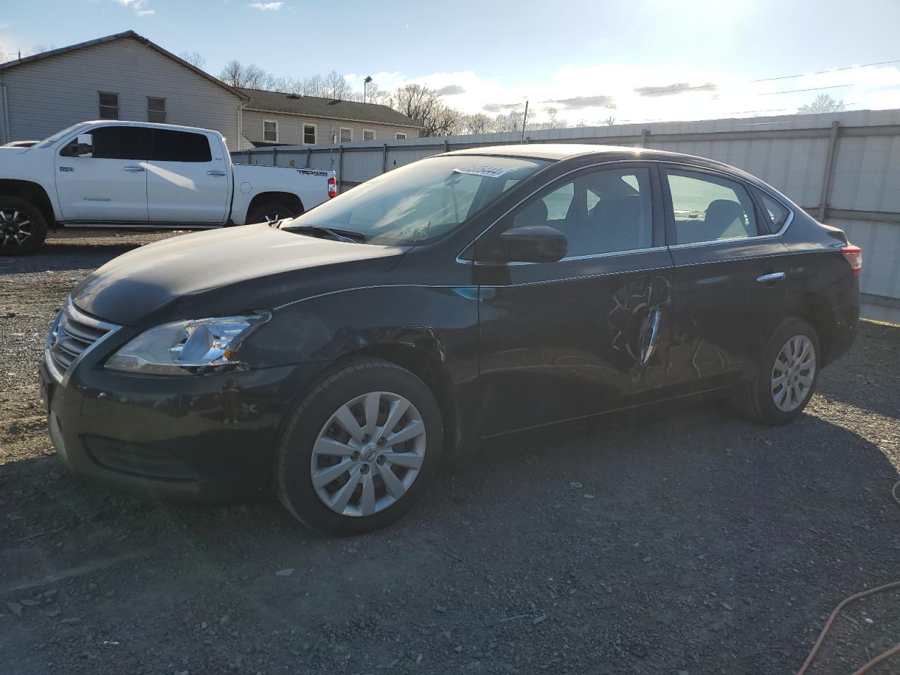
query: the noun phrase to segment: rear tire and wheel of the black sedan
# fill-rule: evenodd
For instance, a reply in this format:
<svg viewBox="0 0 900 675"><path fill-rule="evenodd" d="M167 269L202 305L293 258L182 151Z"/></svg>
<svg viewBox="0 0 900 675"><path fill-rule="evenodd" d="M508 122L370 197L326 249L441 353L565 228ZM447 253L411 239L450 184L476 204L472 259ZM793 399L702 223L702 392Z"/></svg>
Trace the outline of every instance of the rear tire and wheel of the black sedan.
<svg viewBox="0 0 900 675"><path fill-rule="evenodd" d="M801 358L795 361L790 359L789 350L792 347L788 345L789 342L795 346L800 345ZM803 351L807 343L812 350L811 373L810 368L802 367L810 361L808 354L804 356ZM783 350L788 352L783 353ZM787 363L785 358L788 359ZM769 425L787 424L797 419L813 397L815 385L819 381L821 364L822 348L815 329L802 319L783 320L772 333L769 344L762 353L761 364L754 381L734 394L734 403L749 419ZM794 370L790 370L790 365L795 366ZM775 385L774 378L777 374L779 376L787 374L788 382L797 379L786 391L784 385L780 387ZM804 383L804 378L808 383Z"/></svg>

